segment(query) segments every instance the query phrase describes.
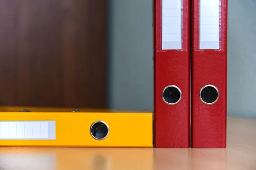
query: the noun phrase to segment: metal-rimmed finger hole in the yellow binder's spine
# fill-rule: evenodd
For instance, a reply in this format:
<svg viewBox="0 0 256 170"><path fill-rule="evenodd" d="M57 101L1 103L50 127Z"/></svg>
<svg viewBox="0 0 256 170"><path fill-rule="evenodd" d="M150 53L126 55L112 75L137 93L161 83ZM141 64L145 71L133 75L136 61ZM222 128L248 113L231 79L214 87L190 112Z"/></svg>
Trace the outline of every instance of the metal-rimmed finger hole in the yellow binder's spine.
<svg viewBox="0 0 256 170"><path fill-rule="evenodd" d="M109 127L103 121L96 121L90 126L90 135L96 140L103 140L108 136Z"/></svg>

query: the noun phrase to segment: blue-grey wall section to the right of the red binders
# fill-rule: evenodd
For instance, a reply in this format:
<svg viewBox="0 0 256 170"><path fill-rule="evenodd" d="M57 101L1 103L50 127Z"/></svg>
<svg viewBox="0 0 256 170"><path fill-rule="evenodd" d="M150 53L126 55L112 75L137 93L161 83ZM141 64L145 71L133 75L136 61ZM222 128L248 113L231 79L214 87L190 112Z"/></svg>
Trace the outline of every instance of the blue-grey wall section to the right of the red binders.
<svg viewBox="0 0 256 170"><path fill-rule="evenodd" d="M227 111L256 118L256 0L228 1Z"/></svg>

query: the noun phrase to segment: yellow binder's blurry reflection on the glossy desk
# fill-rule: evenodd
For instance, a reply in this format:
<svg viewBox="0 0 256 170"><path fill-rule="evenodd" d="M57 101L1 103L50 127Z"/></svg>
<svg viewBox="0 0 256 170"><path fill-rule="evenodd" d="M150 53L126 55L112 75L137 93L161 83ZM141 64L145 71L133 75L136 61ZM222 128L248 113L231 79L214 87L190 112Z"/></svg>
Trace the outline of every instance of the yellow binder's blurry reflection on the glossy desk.
<svg viewBox="0 0 256 170"><path fill-rule="evenodd" d="M152 148L2 147L0 169L153 170Z"/></svg>

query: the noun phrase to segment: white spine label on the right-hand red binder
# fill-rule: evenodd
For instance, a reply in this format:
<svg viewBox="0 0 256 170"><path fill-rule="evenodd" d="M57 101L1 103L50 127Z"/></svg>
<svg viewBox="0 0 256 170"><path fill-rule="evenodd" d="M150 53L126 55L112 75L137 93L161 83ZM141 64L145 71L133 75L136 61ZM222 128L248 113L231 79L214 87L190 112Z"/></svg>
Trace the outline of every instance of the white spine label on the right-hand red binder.
<svg viewBox="0 0 256 170"><path fill-rule="evenodd" d="M220 48L220 0L200 0L200 49Z"/></svg>

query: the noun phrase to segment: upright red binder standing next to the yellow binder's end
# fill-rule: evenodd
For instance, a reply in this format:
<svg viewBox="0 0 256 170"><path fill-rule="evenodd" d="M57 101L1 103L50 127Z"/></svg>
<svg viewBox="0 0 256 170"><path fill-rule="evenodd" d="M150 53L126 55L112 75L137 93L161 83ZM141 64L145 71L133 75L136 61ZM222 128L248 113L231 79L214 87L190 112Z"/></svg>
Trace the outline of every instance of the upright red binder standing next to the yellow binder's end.
<svg viewBox="0 0 256 170"><path fill-rule="evenodd" d="M189 1L154 0L154 147L189 147Z"/></svg>

